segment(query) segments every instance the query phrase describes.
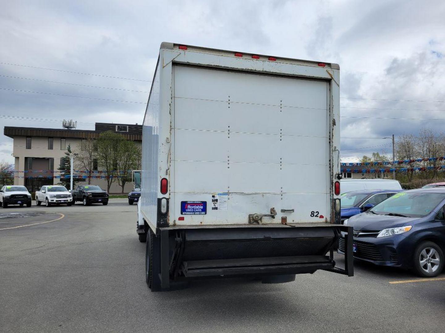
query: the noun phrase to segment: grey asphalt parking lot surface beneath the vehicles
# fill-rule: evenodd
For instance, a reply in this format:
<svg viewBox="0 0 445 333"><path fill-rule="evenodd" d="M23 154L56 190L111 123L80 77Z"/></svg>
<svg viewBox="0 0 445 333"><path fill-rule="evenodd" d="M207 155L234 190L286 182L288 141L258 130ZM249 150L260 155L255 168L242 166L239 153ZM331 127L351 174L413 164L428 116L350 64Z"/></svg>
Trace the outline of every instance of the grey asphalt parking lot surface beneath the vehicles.
<svg viewBox="0 0 445 333"><path fill-rule="evenodd" d="M152 293L135 221L126 199L0 209L0 332L445 332L444 273L423 281L358 261L354 277Z"/></svg>

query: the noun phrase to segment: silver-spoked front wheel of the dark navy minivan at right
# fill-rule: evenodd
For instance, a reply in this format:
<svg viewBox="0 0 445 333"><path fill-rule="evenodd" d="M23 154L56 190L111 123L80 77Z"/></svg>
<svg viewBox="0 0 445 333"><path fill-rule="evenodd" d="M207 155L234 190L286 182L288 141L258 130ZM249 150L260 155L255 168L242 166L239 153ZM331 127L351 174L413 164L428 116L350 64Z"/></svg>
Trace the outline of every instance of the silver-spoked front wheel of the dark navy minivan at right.
<svg viewBox="0 0 445 333"><path fill-rule="evenodd" d="M423 242L414 251L414 270L422 277L435 277L444 267L442 249L433 242Z"/></svg>

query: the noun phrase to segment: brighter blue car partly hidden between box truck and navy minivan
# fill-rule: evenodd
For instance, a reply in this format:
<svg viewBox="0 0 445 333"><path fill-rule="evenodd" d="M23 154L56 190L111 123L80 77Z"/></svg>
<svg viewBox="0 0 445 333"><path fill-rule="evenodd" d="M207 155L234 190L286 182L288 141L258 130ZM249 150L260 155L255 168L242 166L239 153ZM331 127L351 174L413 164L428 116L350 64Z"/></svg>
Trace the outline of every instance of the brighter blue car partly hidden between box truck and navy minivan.
<svg viewBox="0 0 445 333"><path fill-rule="evenodd" d="M341 195L341 222L363 213L402 190L358 190Z"/></svg>

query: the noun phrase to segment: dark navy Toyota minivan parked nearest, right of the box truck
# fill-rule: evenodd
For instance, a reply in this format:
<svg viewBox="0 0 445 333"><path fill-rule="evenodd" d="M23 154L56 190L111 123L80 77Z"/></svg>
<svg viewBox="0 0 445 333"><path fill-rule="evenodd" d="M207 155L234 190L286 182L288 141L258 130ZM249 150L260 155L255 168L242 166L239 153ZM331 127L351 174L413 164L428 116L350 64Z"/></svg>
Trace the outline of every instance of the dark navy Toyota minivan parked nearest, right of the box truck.
<svg viewBox="0 0 445 333"><path fill-rule="evenodd" d="M400 192L344 221L354 228L354 258L434 277L444 267L445 188ZM344 253L341 237L338 252Z"/></svg>

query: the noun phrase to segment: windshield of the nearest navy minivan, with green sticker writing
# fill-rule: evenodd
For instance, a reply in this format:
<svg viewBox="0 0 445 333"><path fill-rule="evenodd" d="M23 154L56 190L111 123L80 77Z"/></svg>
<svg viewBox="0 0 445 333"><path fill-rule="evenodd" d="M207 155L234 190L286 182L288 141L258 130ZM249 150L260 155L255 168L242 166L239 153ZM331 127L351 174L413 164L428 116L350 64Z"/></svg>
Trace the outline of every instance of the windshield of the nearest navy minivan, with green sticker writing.
<svg viewBox="0 0 445 333"><path fill-rule="evenodd" d="M445 199L445 193L401 192L380 202L368 212L417 218L428 215Z"/></svg>

